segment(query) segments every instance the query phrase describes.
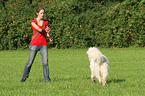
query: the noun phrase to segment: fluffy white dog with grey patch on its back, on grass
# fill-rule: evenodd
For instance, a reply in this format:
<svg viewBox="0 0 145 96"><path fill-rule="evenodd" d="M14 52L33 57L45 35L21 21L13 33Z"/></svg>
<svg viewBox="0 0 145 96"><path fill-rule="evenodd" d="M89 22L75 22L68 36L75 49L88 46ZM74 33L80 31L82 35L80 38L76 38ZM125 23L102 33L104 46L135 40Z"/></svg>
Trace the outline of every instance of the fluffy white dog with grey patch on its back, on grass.
<svg viewBox="0 0 145 96"><path fill-rule="evenodd" d="M109 70L109 60L95 47L90 47L87 54L90 61L92 81L95 82L95 77L97 77L99 83L102 82L102 85L105 85Z"/></svg>

